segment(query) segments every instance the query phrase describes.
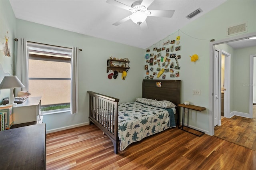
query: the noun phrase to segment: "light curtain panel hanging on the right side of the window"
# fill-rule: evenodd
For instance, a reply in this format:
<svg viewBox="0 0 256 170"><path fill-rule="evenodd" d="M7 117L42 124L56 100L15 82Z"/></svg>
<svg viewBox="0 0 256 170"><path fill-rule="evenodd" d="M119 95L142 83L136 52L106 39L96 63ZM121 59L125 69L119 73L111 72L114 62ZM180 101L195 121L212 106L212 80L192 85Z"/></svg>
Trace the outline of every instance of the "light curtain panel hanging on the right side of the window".
<svg viewBox="0 0 256 170"><path fill-rule="evenodd" d="M77 47L72 48L71 57L71 101L70 110L71 114L78 111L78 52Z"/></svg>

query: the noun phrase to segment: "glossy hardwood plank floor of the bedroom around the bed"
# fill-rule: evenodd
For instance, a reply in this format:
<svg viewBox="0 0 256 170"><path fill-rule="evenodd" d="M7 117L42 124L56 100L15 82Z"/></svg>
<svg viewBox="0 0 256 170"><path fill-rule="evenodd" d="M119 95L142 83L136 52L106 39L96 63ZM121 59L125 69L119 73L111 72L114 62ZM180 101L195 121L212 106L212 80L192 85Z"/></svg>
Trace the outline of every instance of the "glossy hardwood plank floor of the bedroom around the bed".
<svg viewBox="0 0 256 170"><path fill-rule="evenodd" d="M95 125L46 136L47 170L253 170L256 151L204 134L170 128L114 154L111 140Z"/></svg>

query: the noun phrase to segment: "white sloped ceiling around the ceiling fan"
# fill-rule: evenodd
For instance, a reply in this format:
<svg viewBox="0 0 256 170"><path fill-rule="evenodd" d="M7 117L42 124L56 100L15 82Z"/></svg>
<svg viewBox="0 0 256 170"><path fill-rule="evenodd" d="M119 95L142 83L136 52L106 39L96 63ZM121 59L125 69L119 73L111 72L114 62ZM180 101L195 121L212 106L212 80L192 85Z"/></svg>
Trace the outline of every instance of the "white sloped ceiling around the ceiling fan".
<svg viewBox="0 0 256 170"><path fill-rule="evenodd" d="M118 1L130 6L135 0ZM131 13L106 0L10 0L10 4L18 19L145 49L225 1L155 0L148 10L175 12L172 18L148 17L147 30L140 30L131 20L112 25ZM186 16L198 8L203 12L188 20Z"/></svg>

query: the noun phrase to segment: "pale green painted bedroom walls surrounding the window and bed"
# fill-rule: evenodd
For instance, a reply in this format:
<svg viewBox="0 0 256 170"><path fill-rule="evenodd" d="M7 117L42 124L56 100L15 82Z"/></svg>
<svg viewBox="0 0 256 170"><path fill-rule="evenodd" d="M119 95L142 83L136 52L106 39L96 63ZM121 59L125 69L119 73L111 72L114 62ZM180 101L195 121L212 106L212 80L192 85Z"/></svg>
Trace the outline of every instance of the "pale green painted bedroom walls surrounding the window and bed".
<svg viewBox="0 0 256 170"><path fill-rule="evenodd" d="M86 93L88 90L117 97L120 102L133 101L136 97L142 96L142 79L146 75L144 70L146 50L24 20L15 20L8 1L0 1L0 8L1 41L4 34L9 31L10 40L13 40L13 38L26 38L31 42L64 47L76 46L83 49L79 53L78 114L45 115L44 122L46 122L47 130L58 130L58 128L68 128L88 123L88 94ZM181 38L180 45L182 50L179 51L181 55L181 59L179 59L180 77L175 78L182 80L181 101L190 101L193 105L206 107L206 111L192 112L190 114L190 125L206 133L209 131L210 40L236 37L237 35L227 36L227 28L246 21L248 21L247 33L256 32L255 0L228 0L169 36L176 38L179 35ZM155 45L149 48L161 43L156 42ZM12 45L10 45L12 46L12 53L14 53L14 44L12 42ZM191 62L189 56L195 53L198 54L199 59L196 62ZM106 60L110 55L130 59L131 69L128 71L126 80L121 80L120 75L118 79L110 80L107 78ZM5 58L3 60L1 54L0 61L1 64L7 65L6 72L13 73L13 59L8 60ZM236 70L234 69L233 71ZM231 79L234 78L231 77ZM166 79L171 78L166 77ZM233 88L237 87L234 86ZM192 95L193 89L201 90L201 95ZM3 94L2 91L1 93ZM8 94L4 96L6 97ZM234 105L230 107L236 109Z"/></svg>

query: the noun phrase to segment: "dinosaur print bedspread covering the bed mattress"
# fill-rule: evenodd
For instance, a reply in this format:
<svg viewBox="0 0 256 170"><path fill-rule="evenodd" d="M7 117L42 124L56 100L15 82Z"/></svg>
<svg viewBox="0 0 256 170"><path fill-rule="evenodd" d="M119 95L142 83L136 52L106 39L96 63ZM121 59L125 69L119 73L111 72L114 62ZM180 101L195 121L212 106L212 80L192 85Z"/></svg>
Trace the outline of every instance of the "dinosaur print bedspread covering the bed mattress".
<svg viewBox="0 0 256 170"><path fill-rule="evenodd" d="M146 136L169 128L169 120L169 113L165 109L139 102L120 103L118 105L120 150Z"/></svg>

